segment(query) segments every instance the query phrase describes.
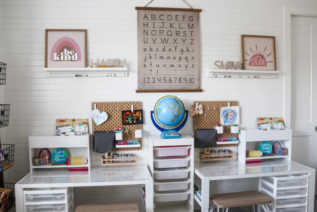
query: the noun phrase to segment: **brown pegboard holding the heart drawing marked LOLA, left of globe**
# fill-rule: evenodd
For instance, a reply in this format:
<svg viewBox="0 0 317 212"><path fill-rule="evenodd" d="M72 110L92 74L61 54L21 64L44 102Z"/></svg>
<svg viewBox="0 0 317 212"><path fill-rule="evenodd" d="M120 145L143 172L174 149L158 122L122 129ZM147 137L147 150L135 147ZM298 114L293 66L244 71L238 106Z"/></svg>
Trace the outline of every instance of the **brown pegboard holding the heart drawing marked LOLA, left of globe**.
<svg viewBox="0 0 317 212"><path fill-rule="evenodd" d="M123 110L131 110L131 105L133 105L133 110L141 110L141 102L92 102L91 110L94 109L94 104L96 104L96 108L102 113L105 111L108 115L108 119L100 124L96 125L94 120L93 122L93 142L94 142L94 131L114 131L114 127L123 127L122 137L123 140L135 140L138 139L141 143L141 147L129 147L129 148L116 148L117 151L124 150L141 150L142 149L142 138L135 138L134 130L142 129L141 124L130 124L123 125L122 124L122 113ZM143 117L142 117L143 119ZM126 133L126 129L128 129L128 133Z"/></svg>

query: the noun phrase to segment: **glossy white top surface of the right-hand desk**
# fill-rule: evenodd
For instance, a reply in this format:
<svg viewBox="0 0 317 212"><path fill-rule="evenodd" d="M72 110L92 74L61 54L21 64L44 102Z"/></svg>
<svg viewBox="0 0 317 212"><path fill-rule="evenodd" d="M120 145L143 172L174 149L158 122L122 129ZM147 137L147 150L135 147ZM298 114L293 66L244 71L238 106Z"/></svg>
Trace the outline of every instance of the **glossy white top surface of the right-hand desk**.
<svg viewBox="0 0 317 212"><path fill-rule="evenodd" d="M284 174L309 173L314 170L294 161L283 158L262 160L261 163L244 164L239 161L202 162L194 164L195 173L200 178L234 179Z"/></svg>

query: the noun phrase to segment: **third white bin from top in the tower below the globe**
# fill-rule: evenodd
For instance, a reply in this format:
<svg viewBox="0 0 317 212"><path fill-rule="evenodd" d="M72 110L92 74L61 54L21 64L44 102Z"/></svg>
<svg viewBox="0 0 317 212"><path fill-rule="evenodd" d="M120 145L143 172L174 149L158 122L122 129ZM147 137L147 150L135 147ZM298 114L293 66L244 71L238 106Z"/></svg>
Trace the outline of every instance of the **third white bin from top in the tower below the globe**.
<svg viewBox="0 0 317 212"><path fill-rule="evenodd" d="M161 168L154 169L154 178L157 180L183 179L188 177L190 168Z"/></svg>

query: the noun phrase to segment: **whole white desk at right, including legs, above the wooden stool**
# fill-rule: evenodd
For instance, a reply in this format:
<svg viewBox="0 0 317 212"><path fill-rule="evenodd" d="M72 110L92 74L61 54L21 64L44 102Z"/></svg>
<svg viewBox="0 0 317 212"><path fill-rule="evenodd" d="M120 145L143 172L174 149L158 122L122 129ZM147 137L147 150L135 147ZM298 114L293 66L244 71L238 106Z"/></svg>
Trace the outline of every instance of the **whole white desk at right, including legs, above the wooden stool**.
<svg viewBox="0 0 317 212"><path fill-rule="evenodd" d="M239 161L202 162L194 164L195 174L201 179L202 200L195 195L202 212L209 211L209 181L285 174L309 174L308 212L314 211L315 169L286 159L245 164Z"/></svg>

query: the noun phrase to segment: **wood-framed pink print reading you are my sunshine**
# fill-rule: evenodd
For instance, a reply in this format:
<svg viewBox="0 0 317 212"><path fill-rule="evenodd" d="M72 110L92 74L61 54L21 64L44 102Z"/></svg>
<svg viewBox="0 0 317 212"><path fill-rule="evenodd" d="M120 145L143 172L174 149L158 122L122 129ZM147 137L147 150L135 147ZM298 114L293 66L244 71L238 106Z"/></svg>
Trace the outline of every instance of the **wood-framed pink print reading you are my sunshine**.
<svg viewBox="0 0 317 212"><path fill-rule="evenodd" d="M275 37L241 35L242 69L276 71Z"/></svg>

